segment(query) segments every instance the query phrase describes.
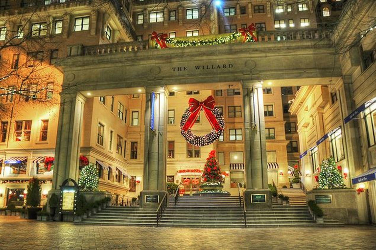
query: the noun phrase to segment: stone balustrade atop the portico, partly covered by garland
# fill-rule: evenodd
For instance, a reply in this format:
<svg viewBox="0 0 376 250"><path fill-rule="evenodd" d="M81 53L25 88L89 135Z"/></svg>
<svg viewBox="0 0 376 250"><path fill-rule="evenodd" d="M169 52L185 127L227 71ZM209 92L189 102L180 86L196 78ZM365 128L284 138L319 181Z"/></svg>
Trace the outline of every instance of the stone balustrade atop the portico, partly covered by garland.
<svg viewBox="0 0 376 250"><path fill-rule="evenodd" d="M260 31L258 32L258 42L282 42L295 40L319 40L330 37L330 30L324 29L305 29L305 30L290 30L290 31ZM206 40L214 37L223 37L227 34L198 36L181 38L181 40ZM232 43L242 42L242 38L234 40ZM210 46L210 45L204 45ZM154 49L155 42L151 40L137 41L137 42L118 42L93 46L83 46L82 55L103 55L112 53L123 53L129 51L138 51L145 49ZM81 54L80 54L81 55Z"/></svg>

